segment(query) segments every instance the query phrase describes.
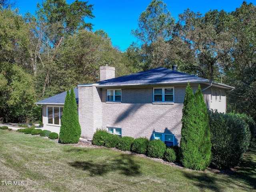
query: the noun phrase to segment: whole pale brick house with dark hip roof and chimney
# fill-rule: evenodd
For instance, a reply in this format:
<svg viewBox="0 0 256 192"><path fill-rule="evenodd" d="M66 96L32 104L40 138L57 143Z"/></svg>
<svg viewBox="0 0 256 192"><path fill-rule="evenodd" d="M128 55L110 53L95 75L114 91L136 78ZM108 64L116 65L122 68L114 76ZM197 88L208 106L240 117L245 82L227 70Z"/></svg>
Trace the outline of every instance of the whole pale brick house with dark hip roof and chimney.
<svg viewBox="0 0 256 192"><path fill-rule="evenodd" d="M120 136L161 139L178 145L187 83L195 92L200 84L206 106L226 112L226 92L234 87L176 70L155 68L115 78L115 68L100 67L100 82L75 88L81 137L88 140L97 128ZM59 132L66 92L42 104L44 129ZM58 101L58 102L57 102Z"/></svg>

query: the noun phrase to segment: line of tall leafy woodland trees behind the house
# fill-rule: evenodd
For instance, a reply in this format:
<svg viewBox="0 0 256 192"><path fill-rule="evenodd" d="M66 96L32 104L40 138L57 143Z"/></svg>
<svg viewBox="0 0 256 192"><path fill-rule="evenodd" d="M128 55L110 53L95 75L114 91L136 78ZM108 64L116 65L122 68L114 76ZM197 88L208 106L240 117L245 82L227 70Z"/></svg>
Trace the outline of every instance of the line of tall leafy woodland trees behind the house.
<svg viewBox="0 0 256 192"><path fill-rule="evenodd" d="M162 0L152 0L126 51L93 28L89 2L44 0L35 15L21 16L0 1L0 120L38 120L34 102L77 84L97 82L108 63L116 76L163 66L236 87L228 109L256 120L256 7L243 2L232 12L187 9L175 20ZM92 23L90 22L92 21Z"/></svg>

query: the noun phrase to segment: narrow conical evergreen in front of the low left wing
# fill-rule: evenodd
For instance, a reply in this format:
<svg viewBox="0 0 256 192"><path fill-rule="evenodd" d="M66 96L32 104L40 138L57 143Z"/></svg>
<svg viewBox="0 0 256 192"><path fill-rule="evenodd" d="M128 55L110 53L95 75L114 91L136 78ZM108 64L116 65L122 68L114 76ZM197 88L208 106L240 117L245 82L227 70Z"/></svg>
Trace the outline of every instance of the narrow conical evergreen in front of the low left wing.
<svg viewBox="0 0 256 192"><path fill-rule="evenodd" d="M70 92L67 91L61 120L60 142L78 143L81 135L81 127L78 120L74 88L72 88Z"/></svg>

